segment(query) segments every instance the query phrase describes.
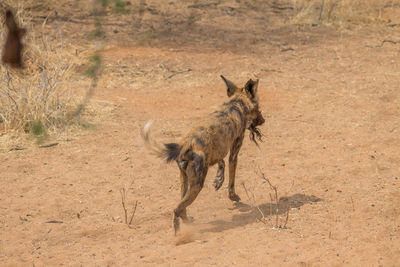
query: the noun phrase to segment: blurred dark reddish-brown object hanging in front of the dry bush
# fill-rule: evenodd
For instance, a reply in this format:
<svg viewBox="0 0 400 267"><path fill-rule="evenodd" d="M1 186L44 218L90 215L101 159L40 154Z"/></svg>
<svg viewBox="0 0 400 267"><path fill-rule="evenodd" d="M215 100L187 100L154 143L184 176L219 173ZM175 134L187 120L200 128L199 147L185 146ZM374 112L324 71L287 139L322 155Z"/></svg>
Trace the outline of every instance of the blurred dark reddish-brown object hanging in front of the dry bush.
<svg viewBox="0 0 400 267"><path fill-rule="evenodd" d="M13 68L23 68L22 65L22 37L26 33L26 29L18 28L14 15L10 10L6 11L4 24L7 27L7 39L3 47L1 61L3 64L9 64Z"/></svg>

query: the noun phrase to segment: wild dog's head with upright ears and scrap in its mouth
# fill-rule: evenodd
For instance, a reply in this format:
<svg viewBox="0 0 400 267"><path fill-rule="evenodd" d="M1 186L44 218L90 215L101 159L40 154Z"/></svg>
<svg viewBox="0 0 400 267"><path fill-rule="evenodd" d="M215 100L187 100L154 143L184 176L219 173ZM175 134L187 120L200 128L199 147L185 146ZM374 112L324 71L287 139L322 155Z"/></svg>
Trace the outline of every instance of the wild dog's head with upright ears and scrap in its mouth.
<svg viewBox="0 0 400 267"><path fill-rule="evenodd" d="M264 124L265 119L262 116L262 113L260 111L260 106L259 106L259 98L258 98L258 79L257 80L248 80L247 83L243 88L237 87L233 82L229 81L226 79L224 76L221 75L221 78L224 80L226 87L227 87L227 95L228 97L235 97L235 96L245 96L249 102L250 102L250 110L246 114L247 117L247 129L250 130L250 139L256 144L257 141L255 140L255 137L257 137L258 140L261 140L262 134L257 128L257 126L260 126Z"/></svg>

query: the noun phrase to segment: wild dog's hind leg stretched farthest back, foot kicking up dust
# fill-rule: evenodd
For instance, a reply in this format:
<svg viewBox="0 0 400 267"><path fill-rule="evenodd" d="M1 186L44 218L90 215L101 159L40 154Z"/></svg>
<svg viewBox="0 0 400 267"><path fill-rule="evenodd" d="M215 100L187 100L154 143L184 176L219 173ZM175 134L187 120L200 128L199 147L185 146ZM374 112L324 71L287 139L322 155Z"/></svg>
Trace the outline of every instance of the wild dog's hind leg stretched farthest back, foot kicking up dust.
<svg viewBox="0 0 400 267"><path fill-rule="evenodd" d="M196 162L196 160L190 161L186 168L188 188L186 190L185 196L182 198L181 202L174 210L173 223L175 235L179 231L179 218L182 218L183 214L186 213L186 208L193 203L193 201L196 199L197 195L203 188L204 180L207 175L207 167L198 166L199 164L201 164L201 162Z"/></svg>

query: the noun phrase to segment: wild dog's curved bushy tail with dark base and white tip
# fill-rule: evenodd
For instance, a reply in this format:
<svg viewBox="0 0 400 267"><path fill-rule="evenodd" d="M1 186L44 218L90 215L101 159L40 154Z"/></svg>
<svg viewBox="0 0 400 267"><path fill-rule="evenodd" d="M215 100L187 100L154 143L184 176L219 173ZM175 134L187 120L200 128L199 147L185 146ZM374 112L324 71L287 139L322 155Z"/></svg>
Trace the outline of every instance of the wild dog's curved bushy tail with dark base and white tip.
<svg viewBox="0 0 400 267"><path fill-rule="evenodd" d="M164 159L166 162L171 162L179 157L181 148L176 143L160 144L151 136L151 125L153 121L148 121L140 130L140 136L143 139L145 147L159 158Z"/></svg>

